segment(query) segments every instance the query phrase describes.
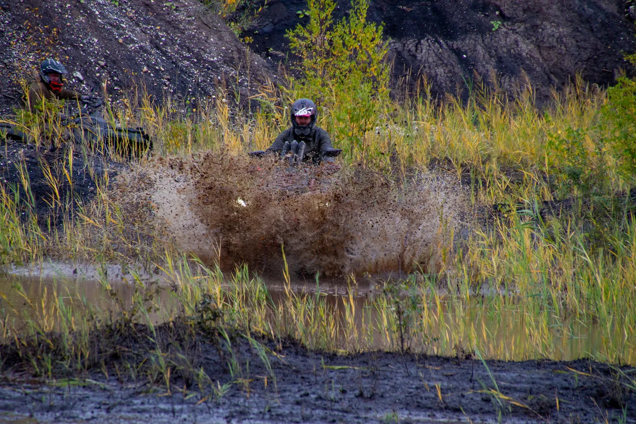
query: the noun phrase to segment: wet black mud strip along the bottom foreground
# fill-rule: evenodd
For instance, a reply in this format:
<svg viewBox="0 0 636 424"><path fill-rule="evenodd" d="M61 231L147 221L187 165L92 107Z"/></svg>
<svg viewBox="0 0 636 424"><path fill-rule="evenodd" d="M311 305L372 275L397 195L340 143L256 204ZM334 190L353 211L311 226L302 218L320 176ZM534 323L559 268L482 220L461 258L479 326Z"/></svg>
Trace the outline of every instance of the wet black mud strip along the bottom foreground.
<svg viewBox="0 0 636 424"><path fill-rule="evenodd" d="M293 345L283 352L270 357L270 373L258 353L242 346L242 374L233 377L210 352L202 367L217 390L226 390L221 396L183 381L170 386L171 395L165 386L153 392L146 378L118 381L114 370L80 385L7 373L0 422L636 422L636 398L621 374L630 371L588 360L485 365L399 353L340 357Z"/></svg>

